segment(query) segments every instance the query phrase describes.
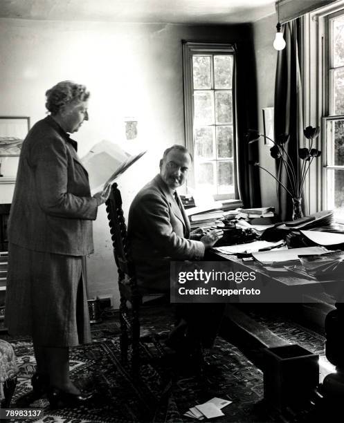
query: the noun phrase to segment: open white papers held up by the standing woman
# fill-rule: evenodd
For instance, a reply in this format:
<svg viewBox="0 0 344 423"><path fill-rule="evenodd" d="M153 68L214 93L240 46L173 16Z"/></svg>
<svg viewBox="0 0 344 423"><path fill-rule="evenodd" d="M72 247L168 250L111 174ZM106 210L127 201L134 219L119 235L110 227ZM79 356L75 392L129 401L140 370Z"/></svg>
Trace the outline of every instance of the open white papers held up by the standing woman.
<svg viewBox="0 0 344 423"><path fill-rule="evenodd" d="M106 187L136 160L141 158L146 151L130 154L118 144L102 140L94 145L81 161L89 172L89 185L91 190Z"/></svg>

